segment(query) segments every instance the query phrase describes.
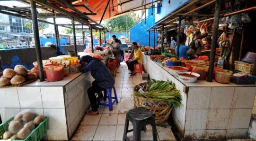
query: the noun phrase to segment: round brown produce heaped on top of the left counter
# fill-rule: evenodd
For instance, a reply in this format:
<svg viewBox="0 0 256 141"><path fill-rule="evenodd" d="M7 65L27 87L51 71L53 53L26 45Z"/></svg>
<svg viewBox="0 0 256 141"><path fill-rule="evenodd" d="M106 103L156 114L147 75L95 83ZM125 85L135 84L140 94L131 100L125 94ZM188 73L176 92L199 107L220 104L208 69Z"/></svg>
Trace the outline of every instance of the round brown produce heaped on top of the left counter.
<svg viewBox="0 0 256 141"><path fill-rule="evenodd" d="M23 65L16 65L13 69L5 69L0 78L0 86L17 86L36 78L34 71L27 70Z"/></svg>

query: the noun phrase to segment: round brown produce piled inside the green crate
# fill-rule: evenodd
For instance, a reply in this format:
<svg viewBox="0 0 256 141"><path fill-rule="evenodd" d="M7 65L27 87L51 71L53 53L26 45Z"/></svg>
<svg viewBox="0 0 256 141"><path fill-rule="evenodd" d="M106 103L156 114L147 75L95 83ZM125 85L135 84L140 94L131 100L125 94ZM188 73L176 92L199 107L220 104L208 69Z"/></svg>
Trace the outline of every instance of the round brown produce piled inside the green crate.
<svg viewBox="0 0 256 141"><path fill-rule="evenodd" d="M45 119L46 117L36 116L32 112L23 115L19 113L9 122L8 131L3 133L1 139L24 140Z"/></svg>

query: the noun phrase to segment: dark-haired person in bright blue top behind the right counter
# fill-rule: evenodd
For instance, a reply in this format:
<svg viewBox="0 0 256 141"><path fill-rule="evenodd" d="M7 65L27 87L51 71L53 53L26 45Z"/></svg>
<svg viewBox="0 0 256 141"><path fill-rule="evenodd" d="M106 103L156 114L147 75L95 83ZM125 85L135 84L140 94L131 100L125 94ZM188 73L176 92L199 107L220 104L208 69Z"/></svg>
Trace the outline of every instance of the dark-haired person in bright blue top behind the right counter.
<svg viewBox="0 0 256 141"><path fill-rule="evenodd" d="M187 51L189 49L188 46L185 45L186 42L186 34L180 33L179 35L179 59L183 57L184 59L188 59ZM178 47L175 48L175 53L177 55Z"/></svg>

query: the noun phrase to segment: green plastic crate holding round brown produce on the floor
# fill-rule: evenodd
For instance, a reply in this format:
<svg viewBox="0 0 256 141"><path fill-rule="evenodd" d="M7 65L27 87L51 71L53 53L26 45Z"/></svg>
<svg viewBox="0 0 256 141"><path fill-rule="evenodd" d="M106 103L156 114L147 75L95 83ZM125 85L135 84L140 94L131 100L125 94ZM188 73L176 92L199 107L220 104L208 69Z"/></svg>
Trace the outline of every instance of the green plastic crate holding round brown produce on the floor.
<svg viewBox="0 0 256 141"><path fill-rule="evenodd" d="M10 118L6 122L0 125L0 137L8 131L9 122L13 120L14 117ZM12 140L12 141L40 141L46 135L48 129L49 117L45 117L45 120L41 122L24 140ZM2 140L7 141L7 140Z"/></svg>

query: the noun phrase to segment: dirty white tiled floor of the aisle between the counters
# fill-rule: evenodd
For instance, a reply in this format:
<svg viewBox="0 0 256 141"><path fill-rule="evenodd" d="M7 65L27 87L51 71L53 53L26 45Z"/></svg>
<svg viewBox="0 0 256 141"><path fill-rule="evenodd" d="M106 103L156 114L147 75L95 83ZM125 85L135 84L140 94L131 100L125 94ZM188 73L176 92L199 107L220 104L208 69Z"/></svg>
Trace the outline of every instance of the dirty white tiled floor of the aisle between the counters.
<svg viewBox="0 0 256 141"><path fill-rule="evenodd" d="M115 88L119 102L131 97L132 88L142 83L141 75L137 74L130 77L129 71L125 63L121 63L115 77ZM100 106L98 116L85 115L81 121L73 141L123 141L125 113L119 112L119 105L114 106L113 111L109 111L108 107ZM131 123L130 123L131 124ZM129 126L129 129L132 125ZM157 126L159 141L176 141L170 126ZM132 139L132 132L128 133L128 137ZM153 140L152 128L147 125L147 131L141 132L142 141Z"/></svg>

